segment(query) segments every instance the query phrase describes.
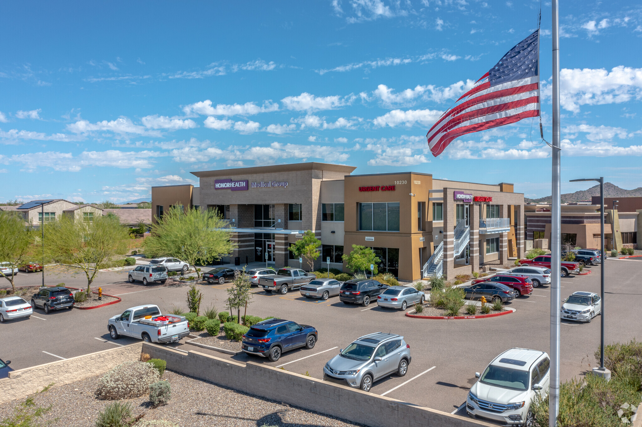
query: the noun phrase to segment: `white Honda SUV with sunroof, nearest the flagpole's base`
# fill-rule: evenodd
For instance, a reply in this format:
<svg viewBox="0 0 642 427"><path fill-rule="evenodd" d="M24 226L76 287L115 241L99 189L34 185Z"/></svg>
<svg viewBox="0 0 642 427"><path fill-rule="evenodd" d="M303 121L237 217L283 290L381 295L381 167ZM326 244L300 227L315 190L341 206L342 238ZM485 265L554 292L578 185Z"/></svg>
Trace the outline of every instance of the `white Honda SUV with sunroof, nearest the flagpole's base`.
<svg viewBox="0 0 642 427"><path fill-rule="evenodd" d="M475 373L466 399L473 418L499 421L503 425L532 427L535 417L530 404L548 394L550 358L543 351L512 348Z"/></svg>

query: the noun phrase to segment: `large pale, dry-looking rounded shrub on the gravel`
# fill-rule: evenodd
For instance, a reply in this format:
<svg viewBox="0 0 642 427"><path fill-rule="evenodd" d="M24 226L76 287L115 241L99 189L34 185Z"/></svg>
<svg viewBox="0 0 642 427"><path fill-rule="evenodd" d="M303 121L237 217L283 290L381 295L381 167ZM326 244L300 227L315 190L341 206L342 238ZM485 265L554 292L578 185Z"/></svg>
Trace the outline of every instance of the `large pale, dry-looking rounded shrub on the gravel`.
<svg viewBox="0 0 642 427"><path fill-rule="evenodd" d="M146 362L117 365L98 381L96 396L103 399L137 398L147 394L159 380L159 371Z"/></svg>

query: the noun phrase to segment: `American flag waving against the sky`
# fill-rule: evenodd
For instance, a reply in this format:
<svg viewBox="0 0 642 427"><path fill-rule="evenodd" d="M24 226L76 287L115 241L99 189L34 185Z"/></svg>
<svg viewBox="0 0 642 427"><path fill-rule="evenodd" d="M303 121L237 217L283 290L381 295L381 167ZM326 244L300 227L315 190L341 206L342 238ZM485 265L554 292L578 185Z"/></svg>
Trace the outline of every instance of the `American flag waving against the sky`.
<svg viewBox="0 0 642 427"><path fill-rule="evenodd" d="M539 30L510 49L433 124L426 134L433 156L466 133L539 116L538 45Z"/></svg>

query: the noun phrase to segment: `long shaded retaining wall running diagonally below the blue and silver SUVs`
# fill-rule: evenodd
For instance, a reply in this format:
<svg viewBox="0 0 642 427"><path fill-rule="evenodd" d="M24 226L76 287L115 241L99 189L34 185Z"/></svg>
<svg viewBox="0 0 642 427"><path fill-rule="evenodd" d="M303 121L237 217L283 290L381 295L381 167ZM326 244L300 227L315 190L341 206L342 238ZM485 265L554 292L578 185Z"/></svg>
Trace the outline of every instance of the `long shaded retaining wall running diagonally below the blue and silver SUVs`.
<svg viewBox="0 0 642 427"><path fill-rule="evenodd" d="M167 368L171 371L367 426L491 427L491 424L473 419L255 362L247 362L243 365L198 351L189 351L185 354L147 342L143 343L143 353L166 360Z"/></svg>

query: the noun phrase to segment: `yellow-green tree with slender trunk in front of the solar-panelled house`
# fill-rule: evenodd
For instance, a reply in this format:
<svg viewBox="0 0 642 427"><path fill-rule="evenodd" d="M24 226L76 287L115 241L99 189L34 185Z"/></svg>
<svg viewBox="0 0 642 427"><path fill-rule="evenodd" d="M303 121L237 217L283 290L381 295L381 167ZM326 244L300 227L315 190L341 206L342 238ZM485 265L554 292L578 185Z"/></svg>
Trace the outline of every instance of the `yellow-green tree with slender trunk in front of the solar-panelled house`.
<svg viewBox="0 0 642 427"><path fill-rule="evenodd" d="M46 258L85 272L87 296L91 296L91 283L98 270L108 267L112 257L126 253L126 239L127 229L107 215L93 221L74 221L63 215L44 228Z"/></svg>

